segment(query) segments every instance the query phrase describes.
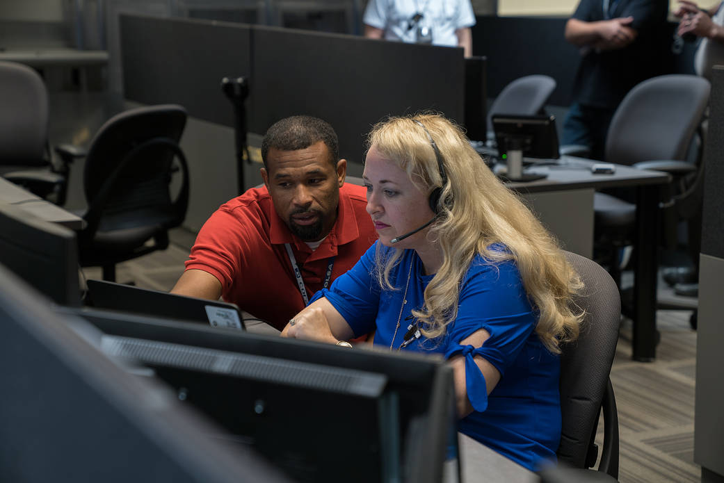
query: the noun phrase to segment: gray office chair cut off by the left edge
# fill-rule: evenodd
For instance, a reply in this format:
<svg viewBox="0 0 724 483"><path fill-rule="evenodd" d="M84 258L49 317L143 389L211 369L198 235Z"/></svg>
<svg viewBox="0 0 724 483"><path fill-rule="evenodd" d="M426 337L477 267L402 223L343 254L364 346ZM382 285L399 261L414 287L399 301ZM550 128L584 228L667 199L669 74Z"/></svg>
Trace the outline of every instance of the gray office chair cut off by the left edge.
<svg viewBox="0 0 724 483"><path fill-rule="evenodd" d="M57 205L65 203L68 165L48 143L48 92L30 67L0 61L0 166L2 176ZM28 168L14 171L15 168Z"/></svg>

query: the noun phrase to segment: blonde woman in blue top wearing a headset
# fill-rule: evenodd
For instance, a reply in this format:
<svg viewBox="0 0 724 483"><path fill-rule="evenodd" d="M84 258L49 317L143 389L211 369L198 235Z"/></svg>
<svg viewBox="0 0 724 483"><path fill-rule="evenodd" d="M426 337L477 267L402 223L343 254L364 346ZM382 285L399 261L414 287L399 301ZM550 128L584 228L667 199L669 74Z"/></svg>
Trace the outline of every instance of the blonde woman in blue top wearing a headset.
<svg viewBox="0 0 724 483"><path fill-rule="evenodd" d="M558 344L578 335L578 275L447 119L389 119L368 145L379 240L282 335L345 345L374 332L390 350L442 353L460 432L529 469L555 460Z"/></svg>

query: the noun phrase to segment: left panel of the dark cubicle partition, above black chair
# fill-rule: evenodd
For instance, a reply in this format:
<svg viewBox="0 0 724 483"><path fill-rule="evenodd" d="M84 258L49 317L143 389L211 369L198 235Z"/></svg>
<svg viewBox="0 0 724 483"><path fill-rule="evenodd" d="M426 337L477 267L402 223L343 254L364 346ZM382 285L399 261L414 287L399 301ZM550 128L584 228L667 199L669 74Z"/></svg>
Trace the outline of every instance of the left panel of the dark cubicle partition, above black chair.
<svg viewBox="0 0 724 483"><path fill-rule="evenodd" d="M251 74L248 25L120 15L125 98L178 103L190 116L233 126L223 77Z"/></svg>

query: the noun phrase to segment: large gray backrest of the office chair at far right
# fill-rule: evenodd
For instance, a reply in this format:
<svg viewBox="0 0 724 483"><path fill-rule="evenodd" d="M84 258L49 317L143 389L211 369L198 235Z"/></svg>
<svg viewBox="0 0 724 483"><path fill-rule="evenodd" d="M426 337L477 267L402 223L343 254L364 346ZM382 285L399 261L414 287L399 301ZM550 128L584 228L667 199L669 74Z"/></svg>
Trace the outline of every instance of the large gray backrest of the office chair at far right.
<svg viewBox="0 0 724 483"><path fill-rule="evenodd" d="M605 161L685 161L710 88L709 81L686 74L653 77L633 87L611 119Z"/></svg>

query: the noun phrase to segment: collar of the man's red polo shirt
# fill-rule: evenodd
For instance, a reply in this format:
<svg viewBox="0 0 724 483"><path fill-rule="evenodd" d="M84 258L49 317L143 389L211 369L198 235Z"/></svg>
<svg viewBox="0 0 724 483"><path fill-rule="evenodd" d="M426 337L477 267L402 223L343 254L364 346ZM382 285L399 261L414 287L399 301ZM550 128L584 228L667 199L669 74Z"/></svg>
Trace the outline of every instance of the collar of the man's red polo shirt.
<svg viewBox="0 0 724 483"><path fill-rule="evenodd" d="M309 253L308 261L318 260L320 258L329 258L337 255L337 246L345 243L353 242L359 236L359 226L357 215L355 210L352 208L352 202L348 197L345 189L346 185L340 188L340 203L337 207L337 221L332 226L332 231L329 232L327 238L325 238L319 247L312 252L312 249L303 242L287 227L282 218L277 215L277 210L274 210L274 204L271 203L271 211L269 213L269 241L272 244L285 244L289 243L294 247L295 252Z"/></svg>

